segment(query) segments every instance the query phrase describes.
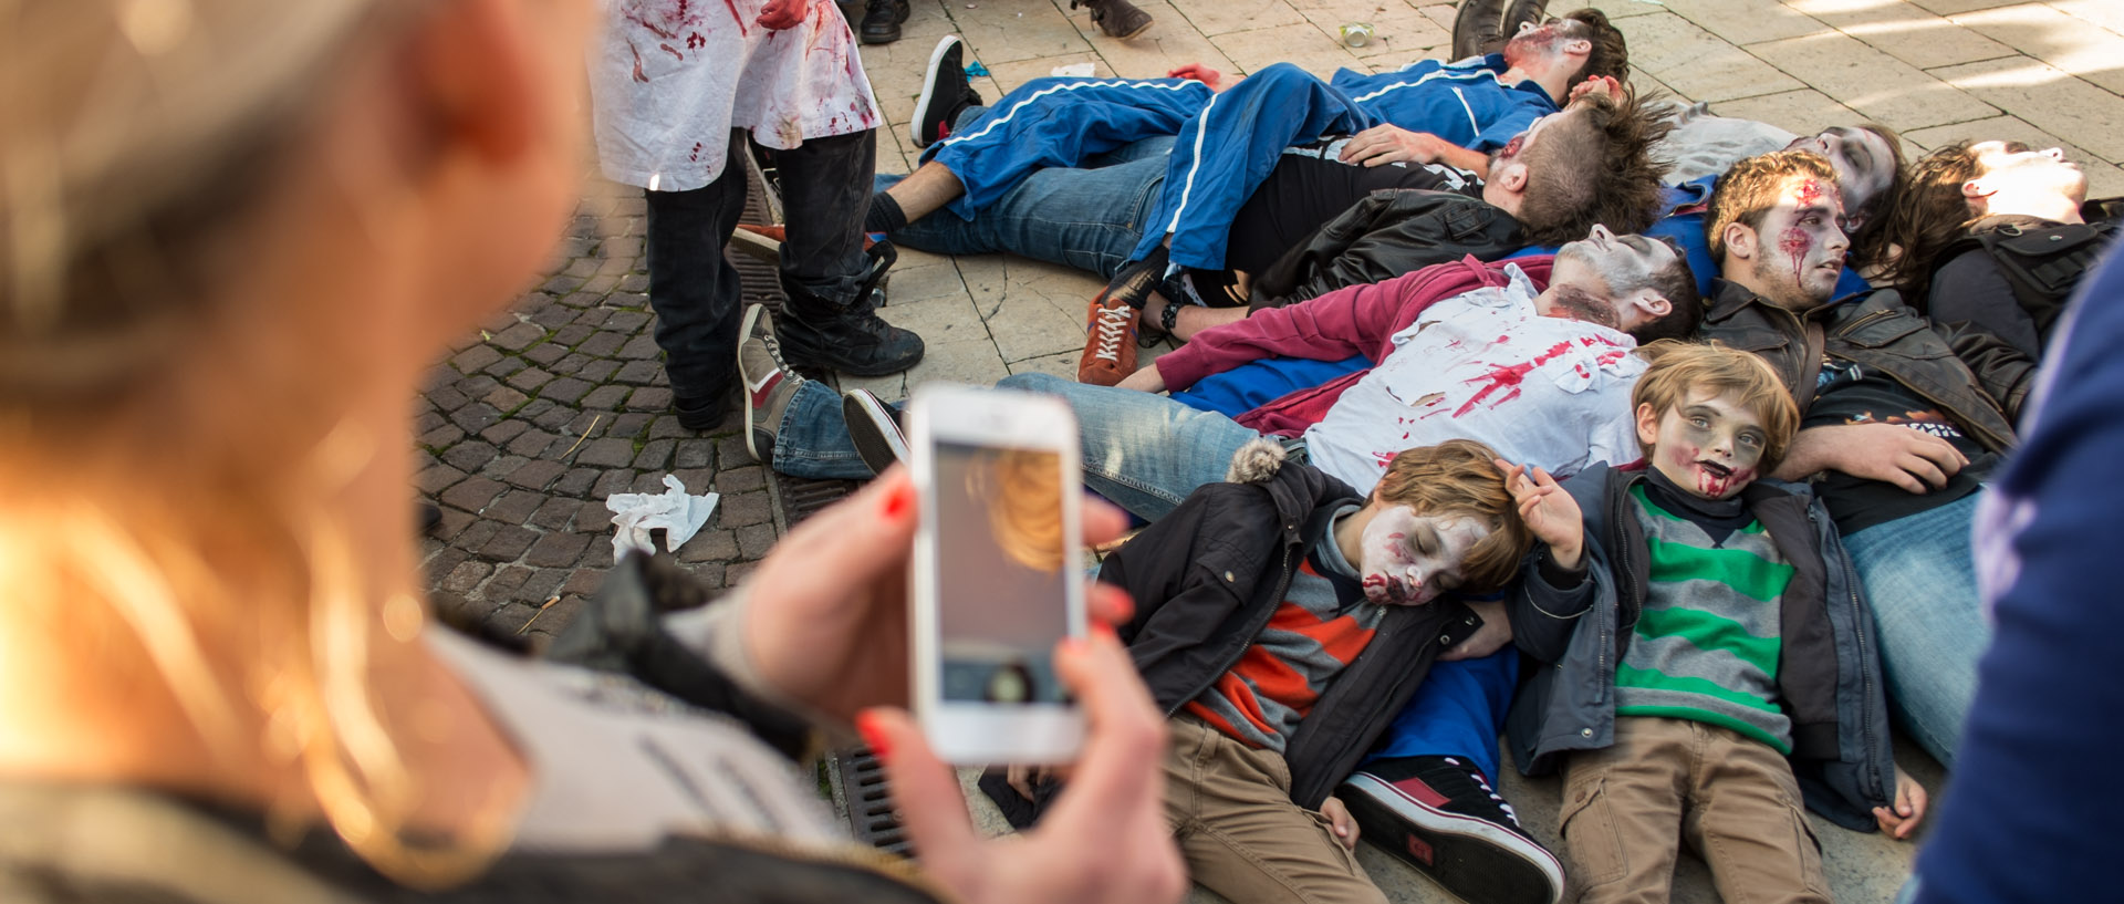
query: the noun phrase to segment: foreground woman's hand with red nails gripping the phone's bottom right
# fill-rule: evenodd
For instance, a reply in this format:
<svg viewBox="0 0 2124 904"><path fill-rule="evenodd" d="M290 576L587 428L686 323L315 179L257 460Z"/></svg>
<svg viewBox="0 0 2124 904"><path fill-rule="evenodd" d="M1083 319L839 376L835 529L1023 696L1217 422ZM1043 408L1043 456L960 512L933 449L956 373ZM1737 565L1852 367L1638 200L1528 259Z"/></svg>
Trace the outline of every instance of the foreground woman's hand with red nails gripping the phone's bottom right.
<svg viewBox="0 0 2124 904"><path fill-rule="evenodd" d="M960 900L983 904L1179 902L1187 868L1164 817L1166 722L1107 622L1056 649L1056 673L1085 713L1075 775L1030 832L981 838L958 777L898 709L856 719L886 762L922 868Z"/></svg>

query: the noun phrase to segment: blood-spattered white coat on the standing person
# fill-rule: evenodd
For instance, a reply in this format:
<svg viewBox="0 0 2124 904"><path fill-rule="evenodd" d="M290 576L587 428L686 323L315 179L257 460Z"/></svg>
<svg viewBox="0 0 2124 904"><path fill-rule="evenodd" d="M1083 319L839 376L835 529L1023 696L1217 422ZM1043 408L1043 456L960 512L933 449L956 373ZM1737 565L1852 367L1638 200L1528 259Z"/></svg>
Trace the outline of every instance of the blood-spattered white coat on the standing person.
<svg viewBox="0 0 2124 904"><path fill-rule="evenodd" d="M771 149L877 127L856 36L833 0L796 28L758 23L767 0L603 0L588 49L597 159L650 191L722 176L731 129Z"/></svg>

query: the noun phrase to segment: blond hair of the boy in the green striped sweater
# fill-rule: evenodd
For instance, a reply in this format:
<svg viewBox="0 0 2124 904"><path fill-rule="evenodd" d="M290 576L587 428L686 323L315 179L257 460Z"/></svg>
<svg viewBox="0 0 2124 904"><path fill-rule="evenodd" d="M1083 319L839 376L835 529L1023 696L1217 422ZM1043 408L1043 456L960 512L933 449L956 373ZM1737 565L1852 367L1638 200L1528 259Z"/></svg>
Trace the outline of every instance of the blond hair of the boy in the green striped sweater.
<svg viewBox="0 0 2124 904"><path fill-rule="evenodd" d="M1799 433L1799 403L1793 401L1793 393L1784 388L1784 380L1769 369L1767 361L1720 342L1678 340L1644 346L1638 357L1646 359L1650 367L1638 376L1638 386L1629 390L1631 407L1652 405L1652 412L1665 416L1680 410L1691 395L1701 393L1716 399L1737 393L1740 405L1763 422L1761 469L1774 471L1784 460L1784 450ZM1652 448L1646 446L1644 452L1650 454Z"/></svg>

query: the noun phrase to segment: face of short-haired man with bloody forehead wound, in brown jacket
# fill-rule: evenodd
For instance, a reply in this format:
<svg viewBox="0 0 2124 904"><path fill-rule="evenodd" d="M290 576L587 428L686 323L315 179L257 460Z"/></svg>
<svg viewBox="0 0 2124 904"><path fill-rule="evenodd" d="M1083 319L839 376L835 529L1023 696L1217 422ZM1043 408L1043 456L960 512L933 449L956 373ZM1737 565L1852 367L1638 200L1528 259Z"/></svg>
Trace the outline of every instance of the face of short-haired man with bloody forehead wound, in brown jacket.
<svg viewBox="0 0 2124 904"><path fill-rule="evenodd" d="M1786 310L1820 308L1844 276L1850 238L1833 185L1793 176L1754 229L1757 291Z"/></svg>

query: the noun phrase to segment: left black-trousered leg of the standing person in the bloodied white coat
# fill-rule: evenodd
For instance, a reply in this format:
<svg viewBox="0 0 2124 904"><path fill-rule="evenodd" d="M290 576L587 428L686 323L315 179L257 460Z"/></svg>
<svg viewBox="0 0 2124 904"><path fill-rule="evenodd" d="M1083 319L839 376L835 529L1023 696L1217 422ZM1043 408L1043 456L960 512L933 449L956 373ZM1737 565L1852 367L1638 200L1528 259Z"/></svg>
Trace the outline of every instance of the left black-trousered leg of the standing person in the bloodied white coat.
<svg viewBox="0 0 2124 904"><path fill-rule="evenodd" d="M722 176L692 191L644 191L650 308L665 352L678 420L690 431L722 422L737 371L737 270L722 246L746 212L746 134L733 132Z"/></svg>

